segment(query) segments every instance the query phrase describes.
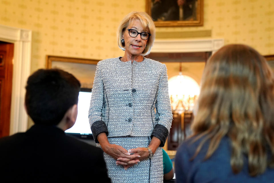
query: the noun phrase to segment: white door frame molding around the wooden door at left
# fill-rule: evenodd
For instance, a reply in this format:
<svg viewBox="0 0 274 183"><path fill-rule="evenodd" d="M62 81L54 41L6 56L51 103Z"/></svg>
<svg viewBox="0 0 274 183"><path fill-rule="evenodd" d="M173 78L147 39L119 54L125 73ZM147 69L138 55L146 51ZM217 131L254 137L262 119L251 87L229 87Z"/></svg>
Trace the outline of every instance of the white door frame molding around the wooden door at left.
<svg viewBox="0 0 274 183"><path fill-rule="evenodd" d="M24 99L31 67L31 34L31 30L0 25L0 41L14 43L10 135L25 132L28 127Z"/></svg>

